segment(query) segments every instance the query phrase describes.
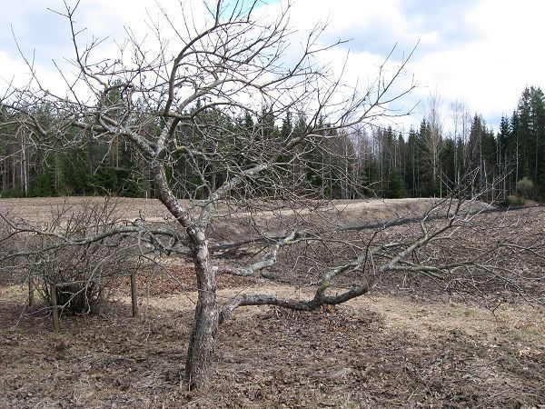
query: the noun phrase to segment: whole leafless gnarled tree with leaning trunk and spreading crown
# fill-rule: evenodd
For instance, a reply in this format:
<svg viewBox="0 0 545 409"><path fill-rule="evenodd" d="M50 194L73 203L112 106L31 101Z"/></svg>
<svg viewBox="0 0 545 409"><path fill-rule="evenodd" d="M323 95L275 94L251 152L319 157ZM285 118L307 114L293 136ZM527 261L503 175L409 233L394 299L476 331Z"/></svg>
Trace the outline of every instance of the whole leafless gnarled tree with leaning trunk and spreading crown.
<svg viewBox="0 0 545 409"><path fill-rule="evenodd" d="M158 254L181 254L191 260L198 300L185 364L190 387L205 382L218 326L238 307L272 304L313 310L341 304L366 294L388 272L421 273L442 283L455 283L472 266L484 265L491 254L483 251L469 260L453 262L435 254L416 255L432 243L456 240L456 232L473 225L475 212L463 200L445 199L434 205L419 219L419 234L389 240L385 233L389 224L384 224L383 228L374 226L373 233L360 238L358 244L349 244L343 232L368 231L372 225L339 229L331 214L317 212L322 202L311 200L316 199L315 192L300 169L307 161L305 155L320 149L324 141L344 138L342 129L400 115L391 104L414 84L394 95L392 85L407 59L393 71L379 67L369 88L361 93L342 85L318 64L317 55L330 47L318 42L321 27L308 36L300 57L288 65L289 6L271 20L254 17L256 3L245 8L240 2L230 11L217 1L209 6L203 26L192 19L189 8L182 8L181 21L161 10L165 25L154 25L154 46L129 33L120 55L113 58L94 55L99 42L81 47L75 8L67 7L62 15L72 28L75 55L74 78L62 73L69 96L54 95L34 78L25 88L9 90L2 101L5 113L33 129L38 145L51 146L52 140L77 144L91 137L112 149L120 141L133 146L134 161L145 167L154 195L177 226L146 224L142 216L77 240L63 238L62 232L48 234L63 245L99 243L122 235L151 246ZM163 30L173 38L166 38ZM114 93L117 96L112 98ZM54 106L57 113L57 120L48 126L28 109L44 103ZM267 115L284 118L288 113L306 117L288 135L275 135ZM227 114L259 120L235 126ZM68 130L73 129L79 133L68 138ZM188 170L191 180L185 177ZM332 209L333 214L339 213L338 208ZM441 225L429 224L440 215ZM327 221L327 227L316 227L315 217ZM222 235L222 226L248 218L252 219L249 237L233 240ZM45 234L38 228L13 224L7 217L4 220L15 232L10 234ZM378 240L381 236L383 240ZM236 250L250 244L261 247L245 264L223 264L213 256L225 248ZM320 267L320 272L312 297L237 294L220 302L217 274L260 274L278 263L282 249L303 244L333 250L341 245L344 249L341 264L319 257L313 261L307 271ZM355 281L350 284L342 281L351 277ZM341 284L331 291L335 282Z"/></svg>

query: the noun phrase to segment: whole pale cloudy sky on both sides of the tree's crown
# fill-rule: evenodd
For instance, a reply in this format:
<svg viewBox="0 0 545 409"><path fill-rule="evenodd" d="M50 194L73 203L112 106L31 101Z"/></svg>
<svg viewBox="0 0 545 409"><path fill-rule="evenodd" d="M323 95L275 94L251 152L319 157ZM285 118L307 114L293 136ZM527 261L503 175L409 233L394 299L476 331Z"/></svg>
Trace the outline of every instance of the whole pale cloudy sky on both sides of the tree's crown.
<svg viewBox="0 0 545 409"><path fill-rule="evenodd" d="M159 3L179 10L177 0ZM157 15L154 4L152 0L81 0L76 21L78 27L87 27L89 36L119 41L126 26L144 33L145 20ZM261 5L267 14L279 8L278 0L263 0ZM64 18L51 9L63 11L63 2L3 0L0 91L6 81L14 77L22 81L28 73L14 34L23 53L35 59L44 82L62 86L51 61L62 64L64 56L72 55L70 32ZM322 58L341 65L348 54L346 81L353 84L365 84L394 45L395 65L420 42L406 71L406 78L413 75L420 87L403 105L422 104L400 122L405 129L420 122L424 102L435 92L441 95L446 128L449 104L458 99L497 129L500 116L510 115L525 85L545 88L544 16L542 0L294 0L291 22L298 34L328 22L323 42L351 40Z"/></svg>

